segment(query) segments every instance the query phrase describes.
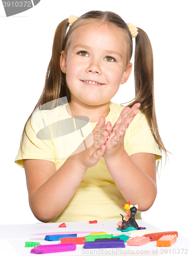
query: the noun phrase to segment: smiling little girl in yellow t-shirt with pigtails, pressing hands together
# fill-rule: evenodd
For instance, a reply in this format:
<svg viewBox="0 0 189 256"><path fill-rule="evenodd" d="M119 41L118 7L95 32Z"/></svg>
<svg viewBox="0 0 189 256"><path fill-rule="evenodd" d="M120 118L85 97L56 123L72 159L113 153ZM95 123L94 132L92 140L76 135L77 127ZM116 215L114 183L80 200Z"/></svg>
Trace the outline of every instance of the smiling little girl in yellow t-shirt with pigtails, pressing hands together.
<svg viewBox="0 0 189 256"><path fill-rule="evenodd" d="M131 74L132 37L135 100L125 107L111 99ZM167 154L158 133L147 34L108 11L64 19L15 159L25 168L35 217L118 220L130 201L141 219L156 198L161 150Z"/></svg>

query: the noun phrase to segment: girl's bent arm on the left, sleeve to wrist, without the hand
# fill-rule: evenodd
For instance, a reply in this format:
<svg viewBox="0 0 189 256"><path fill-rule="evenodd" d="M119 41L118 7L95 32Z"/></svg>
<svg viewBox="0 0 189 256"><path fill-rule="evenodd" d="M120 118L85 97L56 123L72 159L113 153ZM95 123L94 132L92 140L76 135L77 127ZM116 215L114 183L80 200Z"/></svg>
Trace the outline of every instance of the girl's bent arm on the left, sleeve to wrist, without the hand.
<svg viewBox="0 0 189 256"><path fill-rule="evenodd" d="M29 204L34 216L49 222L55 219L73 197L86 169L78 159L67 159L57 170L51 161L23 160Z"/></svg>

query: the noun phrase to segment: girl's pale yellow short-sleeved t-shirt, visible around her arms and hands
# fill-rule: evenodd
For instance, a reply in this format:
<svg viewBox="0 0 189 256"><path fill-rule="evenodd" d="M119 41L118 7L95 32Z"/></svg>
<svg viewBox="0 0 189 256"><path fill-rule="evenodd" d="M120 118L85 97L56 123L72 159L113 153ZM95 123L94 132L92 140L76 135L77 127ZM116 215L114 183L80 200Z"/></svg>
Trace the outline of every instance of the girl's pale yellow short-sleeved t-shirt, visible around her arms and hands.
<svg viewBox="0 0 189 256"><path fill-rule="evenodd" d="M58 170L83 139L92 132L97 122L90 123L85 118L78 123L67 113L66 105L57 106L53 110L39 111L32 116L33 129L27 125L26 131L36 146L25 136L22 145L23 155L21 156L19 148L15 158L16 164L23 167L23 159L43 159L54 162ZM113 126L124 108L125 106L110 102L106 123L110 121ZM124 147L129 156L143 152L156 155L156 161L161 159L161 152L146 117L140 111L126 130ZM76 193L52 222L117 220L121 218L120 214L126 216L126 211L122 207L125 203L124 197L108 172L104 158L101 157L95 166L87 169ZM140 211L137 211L135 219L141 219Z"/></svg>

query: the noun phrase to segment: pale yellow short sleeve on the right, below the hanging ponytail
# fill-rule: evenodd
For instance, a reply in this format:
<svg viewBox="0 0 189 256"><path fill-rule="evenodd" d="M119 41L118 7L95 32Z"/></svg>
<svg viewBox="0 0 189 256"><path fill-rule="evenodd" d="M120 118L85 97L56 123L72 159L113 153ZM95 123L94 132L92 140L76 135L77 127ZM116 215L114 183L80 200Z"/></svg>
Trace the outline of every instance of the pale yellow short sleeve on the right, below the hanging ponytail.
<svg viewBox="0 0 189 256"><path fill-rule="evenodd" d="M156 162L161 158L161 151L152 135L145 114L138 112L125 134L128 155L151 153L156 155Z"/></svg>

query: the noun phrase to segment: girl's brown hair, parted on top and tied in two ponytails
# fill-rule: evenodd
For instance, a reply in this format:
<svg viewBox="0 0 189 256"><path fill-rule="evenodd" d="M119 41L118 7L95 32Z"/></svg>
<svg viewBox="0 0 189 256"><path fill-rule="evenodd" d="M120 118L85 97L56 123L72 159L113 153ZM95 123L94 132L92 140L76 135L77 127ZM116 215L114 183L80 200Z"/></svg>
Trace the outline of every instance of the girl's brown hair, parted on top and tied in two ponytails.
<svg viewBox="0 0 189 256"><path fill-rule="evenodd" d="M31 121L31 117L40 106L56 100L61 97L67 97L68 103L70 102L70 91L66 84L66 75L60 69L60 56L61 51L66 51L74 35L74 31L79 27L86 25L91 22L106 23L109 26L118 27L126 35L127 40L127 62L130 61L133 51L132 36L128 29L127 24L124 20L114 12L109 11L90 11L79 17L72 26L68 28L68 19L64 19L56 28L52 57L46 72L45 84L42 94L37 102L32 114L28 118L25 127L22 132L22 138L20 142L22 151L23 136L26 134L26 125L28 121ZM159 136L158 125L155 113L154 104L154 77L153 77L153 53L152 46L147 34L138 28L138 35L135 38L135 58L134 58L134 78L135 78L135 99L129 104L130 107L134 103L140 103L140 111L143 112L147 118L148 124L152 131L152 135L157 142L160 151L163 150L167 159L167 150L164 147L162 140ZM127 102L129 103L129 102ZM125 103L123 103L125 104ZM56 105L55 105L56 106ZM55 107L54 106L54 107ZM27 135L27 134L26 134ZM28 135L27 135L28 137ZM32 142L33 143L33 142ZM156 169L158 169L159 162L157 163Z"/></svg>

